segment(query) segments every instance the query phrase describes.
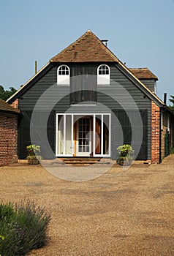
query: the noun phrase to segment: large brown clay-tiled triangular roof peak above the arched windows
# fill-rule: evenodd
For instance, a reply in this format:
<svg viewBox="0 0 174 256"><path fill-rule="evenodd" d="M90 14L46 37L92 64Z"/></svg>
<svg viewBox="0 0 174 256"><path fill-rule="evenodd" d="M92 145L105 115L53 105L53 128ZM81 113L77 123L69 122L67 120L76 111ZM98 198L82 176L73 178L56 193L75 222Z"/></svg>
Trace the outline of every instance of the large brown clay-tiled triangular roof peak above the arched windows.
<svg viewBox="0 0 174 256"><path fill-rule="evenodd" d="M88 30L83 36L50 59L50 62L118 62L117 57Z"/></svg>

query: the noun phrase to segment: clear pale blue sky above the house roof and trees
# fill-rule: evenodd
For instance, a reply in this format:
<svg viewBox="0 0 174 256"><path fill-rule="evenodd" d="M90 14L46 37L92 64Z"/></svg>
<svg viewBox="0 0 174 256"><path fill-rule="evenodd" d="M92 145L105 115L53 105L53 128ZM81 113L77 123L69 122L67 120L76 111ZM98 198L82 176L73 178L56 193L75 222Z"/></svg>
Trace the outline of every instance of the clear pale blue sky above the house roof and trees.
<svg viewBox="0 0 174 256"><path fill-rule="evenodd" d="M88 29L127 67L148 67L174 95L174 0L0 0L0 84L19 89Z"/></svg>

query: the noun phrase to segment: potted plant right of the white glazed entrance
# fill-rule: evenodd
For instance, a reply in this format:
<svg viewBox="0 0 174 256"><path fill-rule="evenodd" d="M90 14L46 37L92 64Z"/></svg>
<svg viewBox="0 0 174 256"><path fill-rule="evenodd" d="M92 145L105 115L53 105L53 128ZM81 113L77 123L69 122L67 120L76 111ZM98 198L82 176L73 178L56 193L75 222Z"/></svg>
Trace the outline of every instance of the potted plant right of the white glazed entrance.
<svg viewBox="0 0 174 256"><path fill-rule="evenodd" d="M119 157L117 159L118 165L131 165L134 160L132 154L134 150L132 146L128 144L124 144L123 146L118 146L117 151L119 153Z"/></svg>

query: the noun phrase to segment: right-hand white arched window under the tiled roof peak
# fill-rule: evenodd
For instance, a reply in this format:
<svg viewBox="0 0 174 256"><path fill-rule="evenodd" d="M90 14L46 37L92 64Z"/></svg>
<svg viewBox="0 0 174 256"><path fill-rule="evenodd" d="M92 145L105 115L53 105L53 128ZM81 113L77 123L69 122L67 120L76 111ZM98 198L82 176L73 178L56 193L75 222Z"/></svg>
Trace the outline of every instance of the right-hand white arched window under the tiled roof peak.
<svg viewBox="0 0 174 256"><path fill-rule="evenodd" d="M110 67L105 64L97 68L97 84L110 84Z"/></svg>

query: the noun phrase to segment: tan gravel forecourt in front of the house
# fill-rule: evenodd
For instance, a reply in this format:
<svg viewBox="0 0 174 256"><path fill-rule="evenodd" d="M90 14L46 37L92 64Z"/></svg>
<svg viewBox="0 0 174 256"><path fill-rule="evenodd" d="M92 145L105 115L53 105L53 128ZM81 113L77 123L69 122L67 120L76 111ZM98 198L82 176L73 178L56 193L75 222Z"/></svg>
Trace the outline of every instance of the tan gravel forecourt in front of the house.
<svg viewBox="0 0 174 256"><path fill-rule="evenodd" d="M48 246L30 256L173 256L173 176L173 156L83 182L20 162L0 167L0 193L4 202L29 198L52 216Z"/></svg>

